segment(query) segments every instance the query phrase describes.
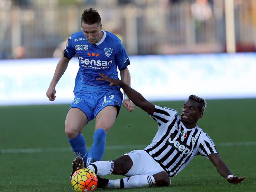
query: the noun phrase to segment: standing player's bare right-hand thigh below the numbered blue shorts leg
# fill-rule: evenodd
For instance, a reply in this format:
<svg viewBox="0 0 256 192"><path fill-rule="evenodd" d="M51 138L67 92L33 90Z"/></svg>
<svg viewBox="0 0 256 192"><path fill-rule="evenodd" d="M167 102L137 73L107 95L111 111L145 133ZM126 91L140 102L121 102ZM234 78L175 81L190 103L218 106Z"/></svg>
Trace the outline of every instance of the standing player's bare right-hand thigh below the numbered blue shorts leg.
<svg viewBox="0 0 256 192"><path fill-rule="evenodd" d="M104 107L95 118L95 130L102 128L107 132L115 123L117 111L117 106Z"/></svg>

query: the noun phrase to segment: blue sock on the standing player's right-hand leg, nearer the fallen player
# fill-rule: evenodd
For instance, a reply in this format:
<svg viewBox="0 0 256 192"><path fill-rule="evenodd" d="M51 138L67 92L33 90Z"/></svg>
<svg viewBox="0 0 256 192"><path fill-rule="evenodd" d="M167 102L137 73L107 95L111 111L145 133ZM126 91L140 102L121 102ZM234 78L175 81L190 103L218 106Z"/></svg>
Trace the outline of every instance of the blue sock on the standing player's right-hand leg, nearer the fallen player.
<svg viewBox="0 0 256 192"><path fill-rule="evenodd" d="M100 161L104 151L106 142L106 132L104 129L99 128L93 134L93 144L88 154L87 165L95 161Z"/></svg>

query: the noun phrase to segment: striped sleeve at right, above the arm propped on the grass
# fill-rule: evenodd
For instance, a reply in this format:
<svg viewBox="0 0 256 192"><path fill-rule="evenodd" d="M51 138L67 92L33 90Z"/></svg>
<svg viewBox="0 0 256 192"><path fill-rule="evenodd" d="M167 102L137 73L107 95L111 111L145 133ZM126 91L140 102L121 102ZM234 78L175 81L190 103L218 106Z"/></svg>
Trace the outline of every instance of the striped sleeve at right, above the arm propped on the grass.
<svg viewBox="0 0 256 192"><path fill-rule="evenodd" d="M207 133L204 134L205 135L200 141L197 155L203 155L207 157L211 153L218 153L211 137Z"/></svg>

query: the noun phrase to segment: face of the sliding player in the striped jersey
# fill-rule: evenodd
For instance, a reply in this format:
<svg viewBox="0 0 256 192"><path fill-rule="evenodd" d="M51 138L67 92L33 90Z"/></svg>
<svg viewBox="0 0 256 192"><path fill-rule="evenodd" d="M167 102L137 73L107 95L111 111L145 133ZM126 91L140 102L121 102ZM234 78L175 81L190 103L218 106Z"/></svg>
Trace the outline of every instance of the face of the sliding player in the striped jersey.
<svg viewBox="0 0 256 192"><path fill-rule="evenodd" d="M185 126L192 126L187 128L193 128L198 119L203 116L203 112L201 111L200 107L200 103L191 99L186 100L186 102L183 104L181 121Z"/></svg>

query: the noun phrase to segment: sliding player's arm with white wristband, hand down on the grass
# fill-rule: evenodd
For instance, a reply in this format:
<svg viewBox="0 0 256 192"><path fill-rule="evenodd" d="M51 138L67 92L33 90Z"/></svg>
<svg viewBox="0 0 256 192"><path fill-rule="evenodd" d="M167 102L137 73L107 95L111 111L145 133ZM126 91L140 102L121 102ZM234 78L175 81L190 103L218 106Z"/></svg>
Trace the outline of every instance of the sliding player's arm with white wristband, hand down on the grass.
<svg viewBox="0 0 256 192"><path fill-rule="evenodd" d="M245 177L234 176L229 170L228 166L221 160L218 153L211 153L209 156L210 161L216 167L219 174L227 179L229 183L240 183Z"/></svg>

